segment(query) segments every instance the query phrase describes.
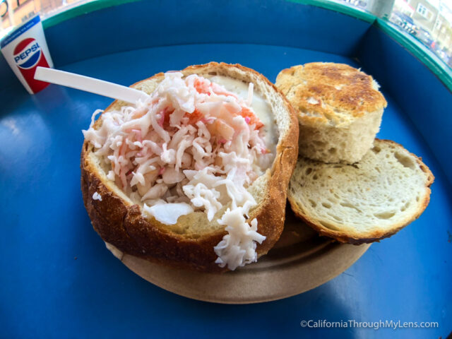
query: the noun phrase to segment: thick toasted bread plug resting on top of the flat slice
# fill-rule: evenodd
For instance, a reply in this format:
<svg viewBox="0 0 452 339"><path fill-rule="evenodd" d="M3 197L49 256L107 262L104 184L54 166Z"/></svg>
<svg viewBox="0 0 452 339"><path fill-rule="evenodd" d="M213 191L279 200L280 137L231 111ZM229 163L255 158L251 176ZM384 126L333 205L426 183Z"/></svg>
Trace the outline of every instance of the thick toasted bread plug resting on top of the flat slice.
<svg viewBox="0 0 452 339"><path fill-rule="evenodd" d="M387 104L371 76L314 62L284 69L276 86L297 111L300 155L351 164L372 147Z"/></svg>

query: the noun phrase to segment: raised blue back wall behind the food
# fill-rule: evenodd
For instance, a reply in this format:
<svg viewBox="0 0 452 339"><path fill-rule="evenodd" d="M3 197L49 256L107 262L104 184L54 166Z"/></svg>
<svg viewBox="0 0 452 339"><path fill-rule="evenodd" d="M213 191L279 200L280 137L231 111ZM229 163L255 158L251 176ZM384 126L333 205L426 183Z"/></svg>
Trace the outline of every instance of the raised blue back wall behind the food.
<svg viewBox="0 0 452 339"><path fill-rule="evenodd" d="M350 56L370 25L287 1L137 1L71 18L48 28L45 35L58 68L115 52L211 42L299 47ZM0 57L0 90L11 84L18 81Z"/></svg>

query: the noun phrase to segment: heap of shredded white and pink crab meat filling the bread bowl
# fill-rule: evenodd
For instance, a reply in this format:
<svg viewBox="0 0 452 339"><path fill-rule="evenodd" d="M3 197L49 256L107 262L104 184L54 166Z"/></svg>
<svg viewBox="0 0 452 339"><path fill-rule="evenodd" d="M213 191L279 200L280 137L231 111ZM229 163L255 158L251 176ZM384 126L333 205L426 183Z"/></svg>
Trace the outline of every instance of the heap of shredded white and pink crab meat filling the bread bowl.
<svg viewBox="0 0 452 339"><path fill-rule="evenodd" d="M194 210L211 221L228 206L217 215L227 235L215 262L234 270L256 261L265 239L247 217L256 206L247 188L273 161L252 100L252 83L243 100L201 76L165 73L145 102L104 112L96 128L102 111L94 112L83 135L105 160L107 178L160 222Z"/></svg>

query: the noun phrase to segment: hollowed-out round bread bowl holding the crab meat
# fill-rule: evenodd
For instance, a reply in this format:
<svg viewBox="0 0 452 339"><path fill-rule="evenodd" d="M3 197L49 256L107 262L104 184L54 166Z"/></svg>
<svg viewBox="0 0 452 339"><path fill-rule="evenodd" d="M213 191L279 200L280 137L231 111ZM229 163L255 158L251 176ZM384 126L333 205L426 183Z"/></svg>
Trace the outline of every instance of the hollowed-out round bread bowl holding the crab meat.
<svg viewBox="0 0 452 339"><path fill-rule="evenodd" d="M297 161L298 124L295 111L284 95L264 76L240 65L210 64L189 66L184 76L228 76L245 83L254 83L254 90L263 95L273 112L278 129L278 145L272 167L258 177L249 192L257 206L249 213L249 220L257 218L258 232L266 239L258 244L258 256L266 254L283 231L287 185ZM164 78L163 73L140 81L131 87L151 93ZM126 105L114 101L106 110ZM102 116L95 128L102 124ZM208 221L206 213L197 211L182 215L175 225L165 225L153 217L142 215L141 204L133 203L118 186L107 179L107 170L93 153L93 145L85 141L81 152L81 189L83 201L94 229L105 242L120 251L151 261L202 271L225 270L215 263L213 247L227 234L218 218ZM98 196L93 198L93 194ZM99 196L102 200L99 199ZM226 208L226 206L224 206Z"/></svg>

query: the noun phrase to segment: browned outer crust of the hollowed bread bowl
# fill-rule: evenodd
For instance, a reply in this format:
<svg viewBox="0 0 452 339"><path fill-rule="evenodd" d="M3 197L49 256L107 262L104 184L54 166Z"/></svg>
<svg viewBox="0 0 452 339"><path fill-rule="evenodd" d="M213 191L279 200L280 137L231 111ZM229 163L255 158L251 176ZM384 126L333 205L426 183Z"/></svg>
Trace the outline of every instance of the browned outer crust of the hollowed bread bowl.
<svg viewBox="0 0 452 339"><path fill-rule="evenodd" d="M245 73L249 81L258 79L265 83L266 87L273 90L283 100L287 112L288 127L281 131L276 148L275 160L270 169L268 179L268 192L263 202L251 210L250 220L257 218L258 232L266 236L262 244L257 244L258 256L266 254L278 241L285 220L285 203L287 186L297 162L298 154L298 122L295 111L285 96L268 81L267 78L252 69L239 64L231 65L211 62L204 65L189 66L182 71L184 76L192 73L200 75L208 72L217 72L220 75L232 76ZM163 73L145 81L161 81ZM131 87L140 88L145 82L140 81ZM117 107L120 102L114 101L112 107ZM100 119L97 120L97 123ZM213 247L227 234L225 230L218 230L203 234L196 239L184 237L165 229L165 225L157 222L152 217L144 218L141 208L121 198L119 194L109 189L109 183L97 173L90 162L88 154L93 145L85 141L81 151L81 190L83 201L88 215L96 232L105 242L117 247L120 251L133 256L148 259L179 268L192 268L204 272L222 272L227 268L220 268L215 263L217 255ZM110 183L111 184L111 183ZM102 201L94 200L93 194L97 192L102 196Z"/></svg>

